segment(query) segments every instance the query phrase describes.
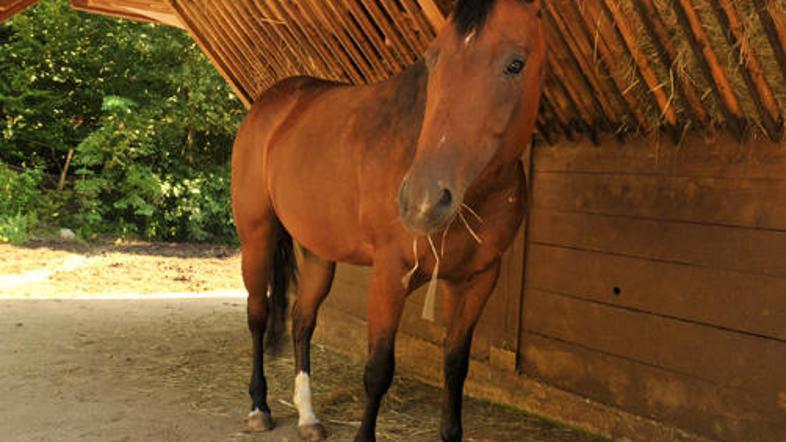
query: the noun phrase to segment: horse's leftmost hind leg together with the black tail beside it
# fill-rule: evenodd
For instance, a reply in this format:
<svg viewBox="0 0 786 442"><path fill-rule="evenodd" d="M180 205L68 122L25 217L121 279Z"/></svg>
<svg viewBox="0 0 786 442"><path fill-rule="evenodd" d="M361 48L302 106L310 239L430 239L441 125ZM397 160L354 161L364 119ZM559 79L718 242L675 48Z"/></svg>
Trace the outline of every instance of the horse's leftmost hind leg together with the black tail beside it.
<svg viewBox="0 0 786 442"><path fill-rule="evenodd" d="M267 404L265 335L267 332L267 345L275 346L283 331L288 276L294 266L291 259L292 240L272 212L263 220L253 223L253 227L238 230L243 283L248 291L248 329L253 343L248 427L252 431L268 431L273 428L273 419Z"/></svg>

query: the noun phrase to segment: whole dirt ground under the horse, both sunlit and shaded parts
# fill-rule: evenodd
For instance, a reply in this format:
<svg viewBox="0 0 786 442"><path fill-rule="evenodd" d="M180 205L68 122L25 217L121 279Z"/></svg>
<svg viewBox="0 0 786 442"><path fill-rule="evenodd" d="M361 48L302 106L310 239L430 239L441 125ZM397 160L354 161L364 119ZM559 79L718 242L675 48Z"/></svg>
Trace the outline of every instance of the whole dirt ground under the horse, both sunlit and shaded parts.
<svg viewBox="0 0 786 442"><path fill-rule="evenodd" d="M276 429L245 431L241 287L227 247L0 244L0 439L298 440L289 354L266 364ZM317 345L312 366L330 440L351 440L363 361ZM437 440L439 397L397 376L380 440ZM601 440L482 401L467 400L464 416L468 441Z"/></svg>

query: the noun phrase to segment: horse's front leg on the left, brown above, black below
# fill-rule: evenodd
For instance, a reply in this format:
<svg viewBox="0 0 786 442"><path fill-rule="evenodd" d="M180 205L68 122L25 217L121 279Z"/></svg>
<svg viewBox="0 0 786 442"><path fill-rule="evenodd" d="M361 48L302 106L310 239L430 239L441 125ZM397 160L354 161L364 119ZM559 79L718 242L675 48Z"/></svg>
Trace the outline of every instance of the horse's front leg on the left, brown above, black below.
<svg viewBox="0 0 786 442"><path fill-rule="evenodd" d="M407 290L399 266L375 259L368 296L368 360L363 374L366 408L355 442L376 440L377 415L382 398L393 382L395 340Z"/></svg>

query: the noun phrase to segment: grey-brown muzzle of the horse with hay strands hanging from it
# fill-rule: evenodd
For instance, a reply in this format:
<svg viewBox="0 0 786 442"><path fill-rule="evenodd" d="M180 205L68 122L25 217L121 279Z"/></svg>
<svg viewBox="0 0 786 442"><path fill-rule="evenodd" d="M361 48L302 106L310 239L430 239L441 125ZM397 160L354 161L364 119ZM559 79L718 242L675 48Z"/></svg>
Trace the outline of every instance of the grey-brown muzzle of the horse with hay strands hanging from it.
<svg viewBox="0 0 786 442"><path fill-rule="evenodd" d="M401 223L419 236L442 230L456 216L459 201L448 186L436 181L416 182L407 176L398 193Z"/></svg>

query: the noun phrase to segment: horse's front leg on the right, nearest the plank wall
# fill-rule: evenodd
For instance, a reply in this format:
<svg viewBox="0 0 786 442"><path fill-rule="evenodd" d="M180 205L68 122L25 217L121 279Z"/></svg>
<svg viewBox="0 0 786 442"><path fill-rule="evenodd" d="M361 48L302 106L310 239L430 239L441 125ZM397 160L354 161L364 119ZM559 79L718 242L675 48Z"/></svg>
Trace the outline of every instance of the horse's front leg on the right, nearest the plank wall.
<svg viewBox="0 0 786 442"><path fill-rule="evenodd" d="M443 441L462 438L461 402L469 371L472 334L499 276L499 261L469 280L445 283L444 311L448 324L445 336L445 388L442 396L440 435Z"/></svg>

